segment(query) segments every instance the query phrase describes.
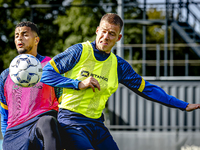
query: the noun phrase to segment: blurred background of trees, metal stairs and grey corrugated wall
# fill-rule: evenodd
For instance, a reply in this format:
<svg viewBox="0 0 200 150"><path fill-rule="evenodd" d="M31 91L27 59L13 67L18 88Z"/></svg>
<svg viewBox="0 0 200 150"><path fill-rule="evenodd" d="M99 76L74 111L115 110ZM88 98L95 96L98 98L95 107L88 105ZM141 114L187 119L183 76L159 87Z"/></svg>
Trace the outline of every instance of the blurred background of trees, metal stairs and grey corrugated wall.
<svg viewBox="0 0 200 150"><path fill-rule="evenodd" d="M38 52L53 57L95 40L100 19L109 12L124 20L113 53L168 94L200 103L200 0L0 0L0 72L17 55L19 22L37 24ZM104 113L121 150L200 149L199 110L168 108L120 85Z"/></svg>

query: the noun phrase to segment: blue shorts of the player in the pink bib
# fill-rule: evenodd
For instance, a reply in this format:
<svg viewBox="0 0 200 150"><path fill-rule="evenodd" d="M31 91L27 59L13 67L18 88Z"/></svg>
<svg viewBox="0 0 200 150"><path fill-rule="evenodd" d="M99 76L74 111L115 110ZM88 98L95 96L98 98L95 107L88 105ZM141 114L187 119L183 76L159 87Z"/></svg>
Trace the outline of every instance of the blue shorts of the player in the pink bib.
<svg viewBox="0 0 200 150"><path fill-rule="evenodd" d="M52 116L52 111L36 116L20 125L6 130L3 150L43 150L44 145L36 131L37 121L44 115Z"/></svg>

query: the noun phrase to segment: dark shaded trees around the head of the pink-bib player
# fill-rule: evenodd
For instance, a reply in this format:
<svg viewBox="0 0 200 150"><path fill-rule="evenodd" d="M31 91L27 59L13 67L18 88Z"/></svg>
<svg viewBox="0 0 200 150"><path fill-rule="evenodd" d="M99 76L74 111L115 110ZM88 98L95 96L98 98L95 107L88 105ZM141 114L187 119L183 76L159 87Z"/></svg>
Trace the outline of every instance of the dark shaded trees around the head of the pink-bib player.
<svg viewBox="0 0 200 150"><path fill-rule="evenodd" d="M56 4L60 7L38 8L38 4ZM9 67L11 60L17 55L14 44L14 30L21 21L33 21L38 25L40 43L38 51L42 55L54 56L52 45L57 41L58 26L53 25L53 20L58 14L65 12L62 8L63 0L1 0L0 1L0 71ZM35 5L37 4L37 5Z"/></svg>

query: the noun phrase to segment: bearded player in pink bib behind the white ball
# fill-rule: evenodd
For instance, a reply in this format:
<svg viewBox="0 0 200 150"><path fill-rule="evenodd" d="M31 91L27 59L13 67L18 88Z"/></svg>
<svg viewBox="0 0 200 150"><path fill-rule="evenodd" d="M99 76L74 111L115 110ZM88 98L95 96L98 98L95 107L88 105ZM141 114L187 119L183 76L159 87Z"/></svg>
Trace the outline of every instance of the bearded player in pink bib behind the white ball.
<svg viewBox="0 0 200 150"><path fill-rule="evenodd" d="M51 58L37 53L39 40L34 23L16 26L17 52L32 54L45 66ZM61 150L58 100L53 87L42 82L30 88L19 87L6 69L0 75L0 102L3 150Z"/></svg>

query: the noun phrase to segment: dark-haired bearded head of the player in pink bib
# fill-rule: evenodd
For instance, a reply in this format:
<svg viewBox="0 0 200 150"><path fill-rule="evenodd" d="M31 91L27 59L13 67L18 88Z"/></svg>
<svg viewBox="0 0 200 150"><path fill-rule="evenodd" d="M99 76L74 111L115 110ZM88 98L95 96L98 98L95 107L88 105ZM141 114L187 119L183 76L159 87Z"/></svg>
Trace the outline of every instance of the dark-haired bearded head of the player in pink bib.
<svg viewBox="0 0 200 150"><path fill-rule="evenodd" d="M37 26L30 21L20 22L15 28L15 46L19 54L37 55L39 43Z"/></svg>

